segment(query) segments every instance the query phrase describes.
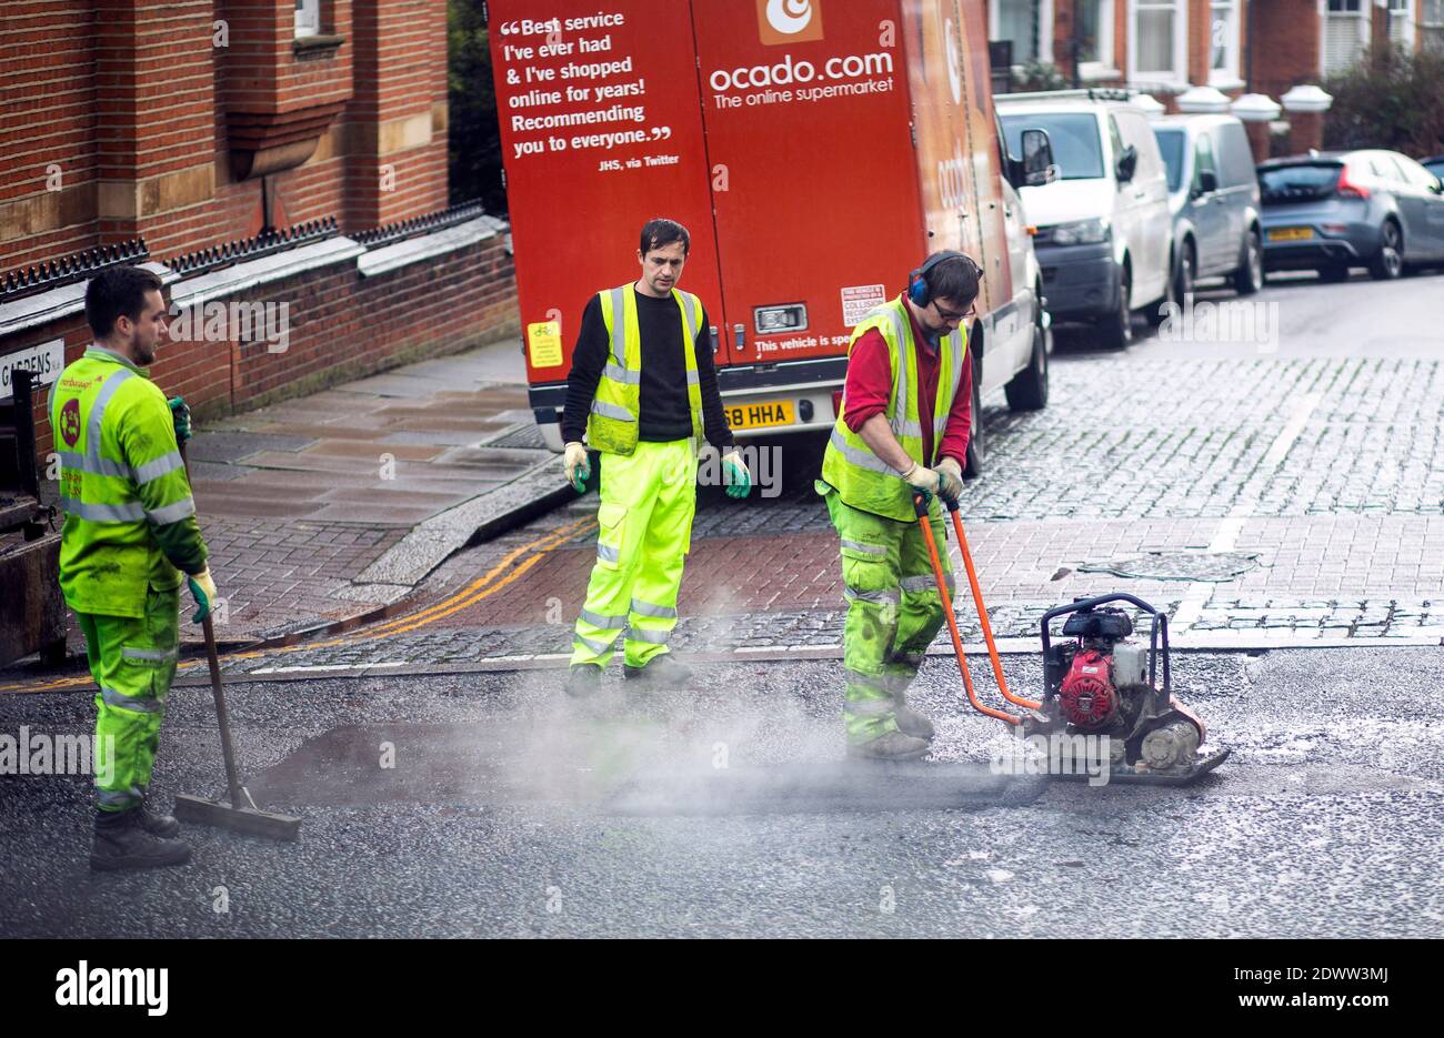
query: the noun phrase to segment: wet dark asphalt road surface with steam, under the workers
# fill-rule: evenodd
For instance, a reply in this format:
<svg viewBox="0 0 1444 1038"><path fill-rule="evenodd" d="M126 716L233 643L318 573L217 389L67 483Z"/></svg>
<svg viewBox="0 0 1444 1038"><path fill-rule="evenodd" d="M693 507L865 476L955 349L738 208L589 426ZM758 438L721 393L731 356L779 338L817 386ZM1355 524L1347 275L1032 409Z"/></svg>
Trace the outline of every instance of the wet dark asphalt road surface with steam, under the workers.
<svg viewBox="0 0 1444 1038"><path fill-rule="evenodd" d="M939 759L905 781L826 764L833 661L721 664L690 694L611 687L583 706L557 670L238 684L253 788L305 817L300 842L188 830L188 866L92 875L88 781L9 778L0 933L1437 935L1438 654L1175 663L1210 742L1233 751L1214 775L1019 778L1012 803L966 795L1008 736L959 712L946 657L915 696L940 722ZM1006 666L1035 684L1034 657ZM22 723L79 733L90 705L0 699L0 730ZM208 692L176 689L155 793L217 791L218 756ZM836 803L856 768L884 803ZM954 780L962 806L928 806Z"/></svg>

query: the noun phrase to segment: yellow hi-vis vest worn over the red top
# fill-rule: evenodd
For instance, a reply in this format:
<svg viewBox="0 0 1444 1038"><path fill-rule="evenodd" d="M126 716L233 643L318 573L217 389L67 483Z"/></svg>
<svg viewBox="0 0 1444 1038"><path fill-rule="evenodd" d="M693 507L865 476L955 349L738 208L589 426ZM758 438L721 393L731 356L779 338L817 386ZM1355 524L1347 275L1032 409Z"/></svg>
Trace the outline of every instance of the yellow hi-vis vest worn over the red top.
<svg viewBox="0 0 1444 1038"><path fill-rule="evenodd" d="M871 329L878 329L888 344L888 362L892 368L892 391L885 411L892 435L907 450L907 456L918 465L931 465L923 458L923 424L917 413L917 342L913 339L913 320L907 303L898 297L872 310L862 323L852 329L848 354ZM963 375L967 359L967 333L959 328L944 335L939 342L937 400L933 403L933 452L943 442L947 416L953 410L953 396ZM838 489L843 502L853 508L911 523L913 491L901 474L872 453L872 448L858 433L848 427L843 414L848 411L846 397L842 413L832 429L832 439L822 459L822 478Z"/></svg>

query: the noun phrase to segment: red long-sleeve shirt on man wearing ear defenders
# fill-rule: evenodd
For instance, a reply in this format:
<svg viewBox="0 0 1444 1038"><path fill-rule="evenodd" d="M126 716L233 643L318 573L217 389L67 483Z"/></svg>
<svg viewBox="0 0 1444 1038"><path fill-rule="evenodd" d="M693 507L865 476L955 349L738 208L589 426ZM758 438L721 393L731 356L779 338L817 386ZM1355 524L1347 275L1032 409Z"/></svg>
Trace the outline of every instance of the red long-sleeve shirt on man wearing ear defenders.
<svg viewBox="0 0 1444 1038"><path fill-rule="evenodd" d="M907 303L904 303L907 306ZM959 380L957 391L953 394L953 407L947 414L947 426L943 429L943 443L933 455L933 423L926 416L933 413L937 403L937 349L928 344L918 328L913 310L908 310L913 322L913 339L917 349L917 413L924 417L923 426L923 458L928 465L936 465L943 458L952 458L960 466L967 463L967 433L973 420L973 365L963 364L963 377ZM848 407L843 422L848 429L858 432L862 423L874 414L882 414L888 409L888 396L892 393L892 365L888 362L888 344L878 329L869 329L852 346L848 358L848 381L845 387Z"/></svg>

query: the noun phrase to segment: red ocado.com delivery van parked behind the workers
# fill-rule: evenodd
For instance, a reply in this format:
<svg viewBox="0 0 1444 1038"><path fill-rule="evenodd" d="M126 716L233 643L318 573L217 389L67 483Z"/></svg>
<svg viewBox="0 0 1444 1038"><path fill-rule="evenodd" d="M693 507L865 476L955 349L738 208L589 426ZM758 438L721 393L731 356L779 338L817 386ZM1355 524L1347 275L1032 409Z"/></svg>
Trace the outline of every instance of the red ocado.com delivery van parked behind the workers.
<svg viewBox="0 0 1444 1038"><path fill-rule="evenodd" d="M692 232L732 429L826 429L852 328L940 248L985 280L980 400L1047 401L1051 336L982 0L494 0L488 35L530 403L547 445L588 299L635 280L653 217Z"/></svg>

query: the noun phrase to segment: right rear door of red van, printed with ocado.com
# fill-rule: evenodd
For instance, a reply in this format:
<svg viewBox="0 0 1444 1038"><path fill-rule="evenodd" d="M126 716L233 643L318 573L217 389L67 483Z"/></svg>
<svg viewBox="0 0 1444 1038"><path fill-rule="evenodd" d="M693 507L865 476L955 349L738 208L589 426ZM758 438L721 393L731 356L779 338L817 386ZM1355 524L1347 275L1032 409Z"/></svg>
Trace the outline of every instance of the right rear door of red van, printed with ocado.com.
<svg viewBox="0 0 1444 1038"><path fill-rule="evenodd" d="M718 364L842 355L920 258L898 6L693 0L692 12L723 286Z"/></svg>

